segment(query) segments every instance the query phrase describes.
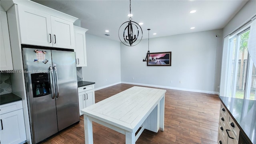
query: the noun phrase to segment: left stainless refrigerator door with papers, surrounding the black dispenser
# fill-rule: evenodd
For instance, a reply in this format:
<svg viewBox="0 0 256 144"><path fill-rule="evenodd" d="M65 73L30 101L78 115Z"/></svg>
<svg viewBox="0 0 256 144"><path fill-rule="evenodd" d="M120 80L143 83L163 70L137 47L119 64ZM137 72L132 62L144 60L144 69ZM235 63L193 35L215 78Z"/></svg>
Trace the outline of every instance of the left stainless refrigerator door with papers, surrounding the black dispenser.
<svg viewBox="0 0 256 144"><path fill-rule="evenodd" d="M31 79L33 73L49 72L49 67L52 67L51 51L37 49L38 53L36 53L34 50L36 48L23 48L22 55L32 142L36 144L58 132L58 125L53 90L51 89L48 95L34 97ZM46 54L42 51L46 51Z"/></svg>

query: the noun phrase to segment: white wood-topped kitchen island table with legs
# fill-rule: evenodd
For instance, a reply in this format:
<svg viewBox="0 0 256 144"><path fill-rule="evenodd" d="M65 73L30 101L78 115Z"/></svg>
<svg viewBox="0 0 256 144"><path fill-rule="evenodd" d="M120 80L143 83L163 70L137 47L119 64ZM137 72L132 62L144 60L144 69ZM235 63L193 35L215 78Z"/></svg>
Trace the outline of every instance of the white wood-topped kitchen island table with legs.
<svg viewBox="0 0 256 144"><path fill-rule="evenodd" d="M165 92L134 86L82 109L85 143L93 143L92 121L125 134L126 144L135 144L144 129L164 131Z"/></svg>

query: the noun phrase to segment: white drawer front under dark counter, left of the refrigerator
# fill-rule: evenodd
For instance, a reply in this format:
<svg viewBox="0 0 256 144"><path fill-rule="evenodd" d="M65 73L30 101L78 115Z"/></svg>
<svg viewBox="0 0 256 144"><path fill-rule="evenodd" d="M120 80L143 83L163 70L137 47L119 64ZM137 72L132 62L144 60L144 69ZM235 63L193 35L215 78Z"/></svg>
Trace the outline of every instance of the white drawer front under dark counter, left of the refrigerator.
<svg viewBox="0 0 256 144"><path fill-rule="evenodd" d="M22 101L11 102L9 104L3 104L0 106L0 114L5 114L7 112L12 112L14 110L22 109Z"/></svg>

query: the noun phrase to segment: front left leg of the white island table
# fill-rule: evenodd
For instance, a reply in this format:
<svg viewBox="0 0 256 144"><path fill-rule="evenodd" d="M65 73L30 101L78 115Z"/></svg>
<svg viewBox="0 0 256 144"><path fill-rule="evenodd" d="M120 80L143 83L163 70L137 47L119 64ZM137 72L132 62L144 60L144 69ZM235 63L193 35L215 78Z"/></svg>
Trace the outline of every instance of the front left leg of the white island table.
<svg viewBox="0 0 256 144"><path fill-rule="evenodd" d="M93 144L92 120L86 114L84 114L84 138L85 144Z"/></svg>

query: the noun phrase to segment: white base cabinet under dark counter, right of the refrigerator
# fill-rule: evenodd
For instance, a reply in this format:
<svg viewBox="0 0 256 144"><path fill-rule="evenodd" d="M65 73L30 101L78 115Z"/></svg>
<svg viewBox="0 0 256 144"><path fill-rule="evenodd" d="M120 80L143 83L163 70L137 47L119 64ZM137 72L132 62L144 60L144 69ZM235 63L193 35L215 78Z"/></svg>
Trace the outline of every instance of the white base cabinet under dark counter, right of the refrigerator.
<svg viewBox="0 0 256 144"><path fill-rule="evenodd" d="M94 84L78 88L79 114L81 110L92 104L95 104Z"/></svg>

